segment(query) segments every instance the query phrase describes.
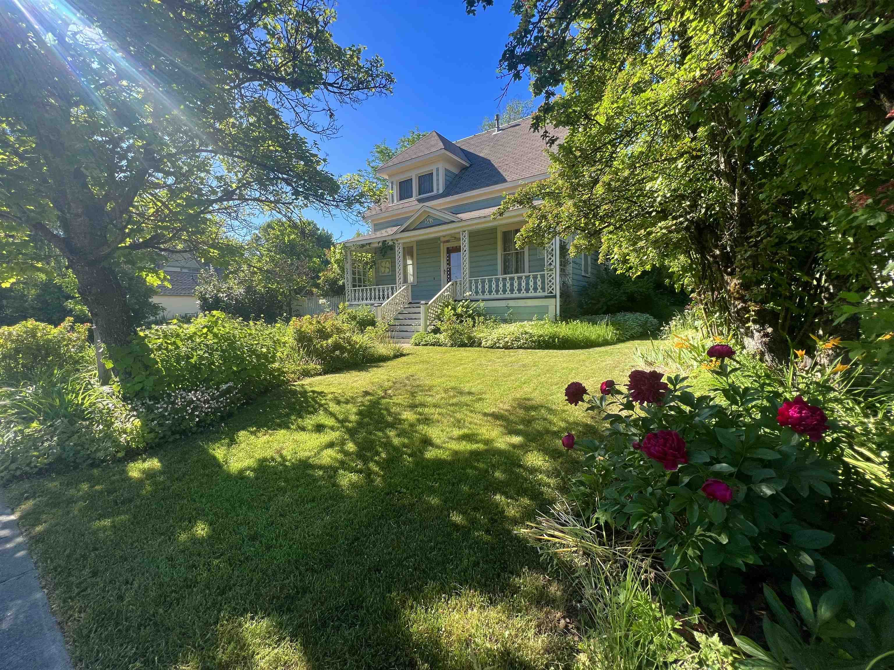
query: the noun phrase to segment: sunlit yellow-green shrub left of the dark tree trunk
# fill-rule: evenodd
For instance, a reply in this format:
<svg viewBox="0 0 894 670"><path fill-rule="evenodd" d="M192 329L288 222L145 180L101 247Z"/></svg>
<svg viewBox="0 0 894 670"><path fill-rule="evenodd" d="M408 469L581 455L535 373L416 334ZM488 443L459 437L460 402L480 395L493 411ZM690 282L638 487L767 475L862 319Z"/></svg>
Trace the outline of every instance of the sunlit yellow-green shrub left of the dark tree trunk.
<svg viewBox="0 0 894 670"><path fill-rule="evenodd" d="M59 326L29 319L0 328L0 380L29 380L54 368L80 371L96 365L88 341L89 325L71 318Z"/></svg>

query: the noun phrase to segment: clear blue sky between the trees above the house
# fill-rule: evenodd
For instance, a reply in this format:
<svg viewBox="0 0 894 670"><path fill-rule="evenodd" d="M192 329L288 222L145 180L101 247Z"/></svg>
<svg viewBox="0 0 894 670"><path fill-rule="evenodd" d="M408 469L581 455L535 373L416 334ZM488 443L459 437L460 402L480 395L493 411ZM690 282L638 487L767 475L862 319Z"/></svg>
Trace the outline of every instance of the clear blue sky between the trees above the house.
<svg viewBox="0 0 894 670"><path fill-rule="evenodd" d="M415 126L460 139L474 135L485 116L502 111L498 98L507 80L497 76L497 66L510 31L518 26L509 0L495 0L476 16L466 14L463 0L342 0L336 10L336 41L381 55L397 82L393 95L338 113L339 137L322 144L334 174L356 172L375 143L384 139L393 145ZM527 80L512 83L506 99L527 99L527 85ZM358 230L342 217L307 214L336 239Z"/></svg>

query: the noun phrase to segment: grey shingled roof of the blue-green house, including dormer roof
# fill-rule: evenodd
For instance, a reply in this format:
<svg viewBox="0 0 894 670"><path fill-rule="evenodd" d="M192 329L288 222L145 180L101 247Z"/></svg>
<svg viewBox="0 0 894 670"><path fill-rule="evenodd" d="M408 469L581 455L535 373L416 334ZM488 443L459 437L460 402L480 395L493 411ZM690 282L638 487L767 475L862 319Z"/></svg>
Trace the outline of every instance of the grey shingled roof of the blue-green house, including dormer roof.
<svg viewBox="0 0 894 670"><path fill-rule="evenodd" d="M559 142L568 134L567 130L553 126L548 126L546 131L548 136L558 138ZM449 142L449 140L444 140L439 133L429 133L412 147L394 156L385 165L401 163L439 148L446 148L436 146L435 139L428 139L433 135L437 136L438 143L442 143L442 140ZM426 145L419 147L423 142L426 142ZM383 202L370 207L367 210L367 216L382 212L403 213L405 210L416 209L419 205L432 203L443 197L457 196L478 188L498 186L549 171L550 158L546 154L546 142L540 132L531 131L530 117L507 123L505 126L501 126L500 132L485 130L485 132L479 132L469 138L459 139L455 143L451 142L451 145L460 149L462 155L471 164L460 170L442 193L434 196L414 197L393 205ZM410 154L410 152L413 153Z"/></svg>

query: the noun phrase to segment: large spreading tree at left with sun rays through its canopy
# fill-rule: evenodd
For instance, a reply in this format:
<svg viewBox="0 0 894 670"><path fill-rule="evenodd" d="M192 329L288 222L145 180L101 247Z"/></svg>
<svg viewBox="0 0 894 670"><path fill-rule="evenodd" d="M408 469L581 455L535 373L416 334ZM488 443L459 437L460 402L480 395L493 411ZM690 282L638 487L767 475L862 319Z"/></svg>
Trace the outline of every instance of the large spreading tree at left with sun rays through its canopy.
<svg viewBox="0 0 894 670"><path fill-rule="evenodd" d="M0 279L49 262L46 243L124 345L116 264L211 260L260 215L355 205L313 138L393 78L334 19L325 0L0 3Z"/></svg>

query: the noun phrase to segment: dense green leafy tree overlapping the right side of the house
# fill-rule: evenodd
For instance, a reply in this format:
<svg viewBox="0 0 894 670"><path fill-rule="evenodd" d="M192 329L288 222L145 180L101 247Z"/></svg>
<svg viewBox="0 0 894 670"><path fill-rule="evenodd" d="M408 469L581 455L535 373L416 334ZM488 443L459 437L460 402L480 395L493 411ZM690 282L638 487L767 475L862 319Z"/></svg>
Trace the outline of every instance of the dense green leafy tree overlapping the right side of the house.
<svg viewBox="0 0 894 670"><path fill-rule="evenodd" d="M505 203L544 201L523 237L576 231L623 272L667 268L771 358L832 328L842 292L891 304L890 0L513 11L502 66L544 95L536 127L569 130L553 178Z"/></svg>

